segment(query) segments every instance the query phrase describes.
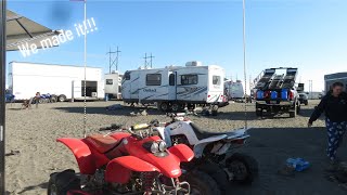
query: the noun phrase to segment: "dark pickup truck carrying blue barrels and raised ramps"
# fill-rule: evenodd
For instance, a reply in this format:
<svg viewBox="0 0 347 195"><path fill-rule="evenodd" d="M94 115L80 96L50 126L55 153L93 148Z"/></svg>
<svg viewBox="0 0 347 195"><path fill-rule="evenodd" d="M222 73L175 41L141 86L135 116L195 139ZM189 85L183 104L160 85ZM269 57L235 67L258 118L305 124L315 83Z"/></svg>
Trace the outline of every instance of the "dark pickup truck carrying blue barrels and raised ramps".
<svg viewBox="0 0 347 195"><path fill-rule="evenodd" d="M279 74L283 72L284 74ZM298 92L295 87L297 68L265 69L255 80L256 115L267 113L288 113L296 117L300 112Z"/></svg>

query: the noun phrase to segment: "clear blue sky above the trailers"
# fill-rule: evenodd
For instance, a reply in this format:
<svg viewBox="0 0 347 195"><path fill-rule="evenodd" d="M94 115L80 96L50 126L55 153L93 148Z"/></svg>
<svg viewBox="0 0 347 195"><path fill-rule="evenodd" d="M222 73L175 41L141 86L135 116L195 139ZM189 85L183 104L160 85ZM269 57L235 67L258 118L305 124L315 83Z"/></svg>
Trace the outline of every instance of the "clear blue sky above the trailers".
<svg viewBox="0 0 347 195"><path fill-rule="evenodd" d="M242 0L230 1L92 1L88 17L98 31L88 36L89 66L108 69L110 47L121 50L119 69L143 65L152 52L154 67L187 61L218 64L227 75L243 79ZM82 2L9 0L8 9L52 29L75 29L83 20ZM347 1L246 0L247 77L264 68L295 66L298 81L313 80L323 89L323 75L346 72ZM83 63L83 39L8 62ZM308 89L308 84L307 84Z"/></svg>

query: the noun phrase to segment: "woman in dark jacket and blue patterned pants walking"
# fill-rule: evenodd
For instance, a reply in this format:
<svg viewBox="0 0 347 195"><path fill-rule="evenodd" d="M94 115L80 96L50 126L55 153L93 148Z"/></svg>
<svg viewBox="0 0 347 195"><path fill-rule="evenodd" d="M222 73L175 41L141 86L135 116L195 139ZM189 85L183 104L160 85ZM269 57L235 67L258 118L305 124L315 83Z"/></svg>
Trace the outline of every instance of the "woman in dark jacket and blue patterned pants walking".
<svg viewBox="0 0 347 195"><path fill-rule="evenodd" d="M343 91L344 84L335 82L331 91L322 98L308 121L311 127L322 113L325 113L325 126L327 130L326 155L330 159L327 170L334 170L337 166L336 152L339 147L343 136L347 131L347 93Z"/></svg>

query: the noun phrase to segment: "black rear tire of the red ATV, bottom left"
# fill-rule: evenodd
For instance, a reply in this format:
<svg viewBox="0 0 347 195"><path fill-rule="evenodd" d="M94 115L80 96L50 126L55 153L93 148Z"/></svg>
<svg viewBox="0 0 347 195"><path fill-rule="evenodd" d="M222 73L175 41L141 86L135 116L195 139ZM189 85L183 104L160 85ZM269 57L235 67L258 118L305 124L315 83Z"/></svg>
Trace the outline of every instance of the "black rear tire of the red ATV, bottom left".
<svg viewBox="0 0 347 195"><path fill-rule="evenodd" d="M68 191L80 190L80 179L72 169L52 173L48 182L47 194L66 195Z"/></svg>

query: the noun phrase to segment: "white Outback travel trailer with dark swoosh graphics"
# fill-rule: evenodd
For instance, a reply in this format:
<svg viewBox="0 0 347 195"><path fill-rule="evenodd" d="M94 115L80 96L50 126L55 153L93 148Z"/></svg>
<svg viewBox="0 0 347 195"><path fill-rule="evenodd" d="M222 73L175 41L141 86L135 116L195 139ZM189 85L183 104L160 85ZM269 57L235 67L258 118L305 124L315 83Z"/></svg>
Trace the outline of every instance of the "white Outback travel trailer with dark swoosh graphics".
<svg viewBox="0 0 347 195"><path fill-rule="evenodd" d="M183 66L136 69L125 73L121 96L126 103L156 103L162 110L218 104L223 100L224 70L189 62Z"/></svg>

